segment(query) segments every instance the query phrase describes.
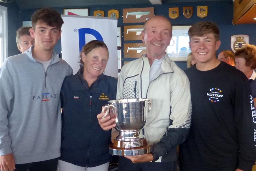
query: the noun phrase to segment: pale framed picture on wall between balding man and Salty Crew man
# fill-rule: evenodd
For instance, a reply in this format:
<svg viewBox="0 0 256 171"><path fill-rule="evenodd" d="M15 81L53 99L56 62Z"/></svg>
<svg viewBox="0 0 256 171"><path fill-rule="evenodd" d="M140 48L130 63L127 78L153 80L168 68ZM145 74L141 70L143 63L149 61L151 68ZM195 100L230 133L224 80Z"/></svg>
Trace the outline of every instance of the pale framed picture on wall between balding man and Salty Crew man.
<svg viewBox="0 0 256 171"><path fill-rule="evenodd" d="M166 49L169 57L173 61L186 61L188 54L191 52L188 42L188 29L190 26L173 26L172 40Z"/></svg>

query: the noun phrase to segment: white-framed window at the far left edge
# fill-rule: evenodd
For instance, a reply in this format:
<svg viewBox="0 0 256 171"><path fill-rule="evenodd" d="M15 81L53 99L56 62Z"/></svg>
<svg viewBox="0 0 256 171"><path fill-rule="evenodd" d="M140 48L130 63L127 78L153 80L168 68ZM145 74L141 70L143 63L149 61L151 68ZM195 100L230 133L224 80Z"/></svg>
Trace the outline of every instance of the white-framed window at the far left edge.
<svg viewBox="0 0 256 171"><path fill-rule="evenodd" d="M0 67L8 57L7 7L0 5Z"/></svg>

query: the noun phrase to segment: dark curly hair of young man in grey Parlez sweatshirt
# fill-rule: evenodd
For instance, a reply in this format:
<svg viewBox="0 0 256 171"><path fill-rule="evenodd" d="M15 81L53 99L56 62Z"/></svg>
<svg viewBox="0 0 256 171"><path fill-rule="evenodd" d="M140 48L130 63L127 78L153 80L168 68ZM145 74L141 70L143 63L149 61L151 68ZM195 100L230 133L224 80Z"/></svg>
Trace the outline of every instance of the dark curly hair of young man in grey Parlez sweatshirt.
<svg viewBox="0 0 256 171"><path fill-rule="evenodd" d="M37 10L31 17L32 27L36 28L38 22L44 22L51 27L57 27L57 29L61 29L64 21L61 18L61 15L58 11L53 10L51 8L43 8Z"/></svg>

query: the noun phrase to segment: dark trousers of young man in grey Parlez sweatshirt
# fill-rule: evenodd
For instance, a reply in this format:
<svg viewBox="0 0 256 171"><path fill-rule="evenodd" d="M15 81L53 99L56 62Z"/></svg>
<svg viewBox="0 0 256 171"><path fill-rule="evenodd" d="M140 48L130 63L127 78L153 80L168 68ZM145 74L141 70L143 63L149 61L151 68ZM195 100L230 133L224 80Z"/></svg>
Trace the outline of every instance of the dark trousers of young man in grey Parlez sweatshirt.
<svg viewBox="0 0 256 171"><path fill-rule="evenodd" d="M58 158L33 163L16 164L15 171L56 171Z"/></svg>

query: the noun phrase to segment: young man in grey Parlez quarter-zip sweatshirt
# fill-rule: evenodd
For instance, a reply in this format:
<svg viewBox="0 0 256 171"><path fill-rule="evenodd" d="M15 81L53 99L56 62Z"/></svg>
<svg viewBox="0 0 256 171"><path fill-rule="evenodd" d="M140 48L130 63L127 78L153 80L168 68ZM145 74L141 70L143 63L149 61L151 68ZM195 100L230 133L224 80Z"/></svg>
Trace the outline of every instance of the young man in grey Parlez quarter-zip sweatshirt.
<svg viewBox="0 0 256 171"><path fill-rule="evenodd" d="M60 89L72 68L53 48L63 20L52 9L32 15L35 45L4 61L0 74L1 171L56 171L60 156Z"/></svg>

